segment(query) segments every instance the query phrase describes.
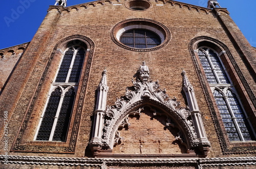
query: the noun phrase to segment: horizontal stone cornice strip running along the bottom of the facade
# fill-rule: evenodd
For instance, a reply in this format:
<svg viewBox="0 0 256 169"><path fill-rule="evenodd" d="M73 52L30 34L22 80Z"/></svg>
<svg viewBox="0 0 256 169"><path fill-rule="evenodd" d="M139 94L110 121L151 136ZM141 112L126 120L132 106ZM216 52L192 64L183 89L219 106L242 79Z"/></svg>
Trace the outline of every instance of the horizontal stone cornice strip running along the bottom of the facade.
<svg viewBox="0 0 256 169"><path fill-rule="evenodd" d="M4 163L5 155L0 155ZM7 156L9 164L52 165L52 166L195 166L202 169L207 166L253 166L256 157L229 158L70 158L39 156ZM5 164L3 164L5 165ZM8 164L7 164L8 166Z"/></svg>

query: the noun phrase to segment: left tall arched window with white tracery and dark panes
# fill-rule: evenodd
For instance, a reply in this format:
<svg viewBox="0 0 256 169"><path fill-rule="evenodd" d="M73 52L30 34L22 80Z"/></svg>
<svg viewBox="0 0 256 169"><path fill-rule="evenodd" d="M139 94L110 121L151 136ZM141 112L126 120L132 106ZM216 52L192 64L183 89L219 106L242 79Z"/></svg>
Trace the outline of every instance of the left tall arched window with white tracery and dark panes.
<svg viewBox="0 0 256 169"><path fill-rule="evenodd" d="M66 141L86 50L71 46L63 53L34 140Z"/></svg>

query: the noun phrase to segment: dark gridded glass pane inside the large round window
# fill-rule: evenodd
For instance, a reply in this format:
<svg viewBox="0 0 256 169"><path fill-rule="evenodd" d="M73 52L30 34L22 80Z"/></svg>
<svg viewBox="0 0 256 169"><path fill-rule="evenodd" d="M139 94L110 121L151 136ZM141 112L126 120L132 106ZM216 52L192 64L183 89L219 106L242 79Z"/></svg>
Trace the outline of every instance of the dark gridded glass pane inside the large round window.
<svg viewBox="0 0 256 169"><path fill-rule="evenodd" d="M160 37L148 30L134 29L124 32L120 42L134 48L152 48L161 44Z"/></svg>

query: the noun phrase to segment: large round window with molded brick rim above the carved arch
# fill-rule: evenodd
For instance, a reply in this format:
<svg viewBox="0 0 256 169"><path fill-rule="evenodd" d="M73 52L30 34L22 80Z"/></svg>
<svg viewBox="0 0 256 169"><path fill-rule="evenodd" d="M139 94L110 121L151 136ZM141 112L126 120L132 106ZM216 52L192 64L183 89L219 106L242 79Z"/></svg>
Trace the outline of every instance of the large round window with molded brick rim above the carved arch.
<svg viewBox="0 0 256 169"><path fill-rule="evenodd" d="M166 26L149 19L129 19L116 24L111 37L119 46L135 51L151 51L166 45L170 32Z"/></svg>

